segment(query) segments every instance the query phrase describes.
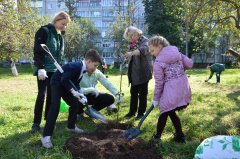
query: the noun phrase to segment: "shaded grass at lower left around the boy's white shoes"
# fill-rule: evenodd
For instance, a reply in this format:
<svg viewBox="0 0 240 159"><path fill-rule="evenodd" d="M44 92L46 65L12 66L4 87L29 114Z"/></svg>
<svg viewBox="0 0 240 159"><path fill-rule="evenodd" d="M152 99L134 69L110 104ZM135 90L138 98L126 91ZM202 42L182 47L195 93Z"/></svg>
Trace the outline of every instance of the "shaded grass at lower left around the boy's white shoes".
<svg viewBox="0 0 240 159"><path fill-rule="evenodd" d="M0 158L72 158L69 151L63 151L63 146L66 141L76 135L66 130L67 123L67 119L57 120L51 138L54 145L53 149L45 149L41 145L40 138L44 127L41 127L41 130L36 133L30 133L30 129L21 133L18 133L17 130L13 130L14 132L11 133L12 135L0 139ZM21 128L25 127L25 125L26 123L16 124L15 127ZM85 133L95 131L97 128L97 124L90 118L86 118L84 122L78 121L76 126L83 129Z"/></svg>

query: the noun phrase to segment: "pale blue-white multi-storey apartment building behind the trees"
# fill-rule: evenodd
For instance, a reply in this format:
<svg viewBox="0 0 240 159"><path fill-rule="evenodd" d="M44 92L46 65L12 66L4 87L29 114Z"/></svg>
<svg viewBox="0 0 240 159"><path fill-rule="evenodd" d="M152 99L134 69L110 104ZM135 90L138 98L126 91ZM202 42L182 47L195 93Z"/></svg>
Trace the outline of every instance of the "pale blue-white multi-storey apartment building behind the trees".
<svg viewBox="0 0 240 159"><path fill-rule="evenodd" d="M39 0L33 4L40 9L40 14L53 16L59 11L67 11L65 3L58 3L58 0ZM96 39L96 46L103 49L102 57L106 59L107 64L117 61L114 54L115 44L107 39L106 32L109 24L114 22L119 8L126 12L128 6L133 5L132 17L138 22L136 27L146 32L142 0L80 0L75 5L77 7L76 14L92 20L99 29L101 36Z"/></svg>

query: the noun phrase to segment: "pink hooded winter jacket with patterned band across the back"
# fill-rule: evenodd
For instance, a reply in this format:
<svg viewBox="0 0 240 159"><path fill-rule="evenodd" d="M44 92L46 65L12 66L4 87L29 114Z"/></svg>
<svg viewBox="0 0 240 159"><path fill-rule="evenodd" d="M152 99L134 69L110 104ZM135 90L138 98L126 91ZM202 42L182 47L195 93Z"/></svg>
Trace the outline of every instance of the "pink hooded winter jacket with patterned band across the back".
<svg viewBox="0 0 240 159"><path fill-rule="evenodd" d="M154 101L159 101L160 114L187 105L191 100L191 88L185 70L192 68L193 61L167 46L157 56L154 64Z"/></svg>

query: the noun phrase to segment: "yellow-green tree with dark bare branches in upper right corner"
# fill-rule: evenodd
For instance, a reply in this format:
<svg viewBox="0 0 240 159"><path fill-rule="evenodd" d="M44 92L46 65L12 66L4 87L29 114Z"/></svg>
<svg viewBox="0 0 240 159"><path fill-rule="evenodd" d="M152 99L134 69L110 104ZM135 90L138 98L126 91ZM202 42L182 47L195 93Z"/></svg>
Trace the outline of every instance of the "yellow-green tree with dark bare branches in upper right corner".
<svg viewBox="0 0 240 159"><path fill-rule="evenodd" d="M180 16L185 22L184 35L186 47L189 39L195 41L195 49L206 50L210 46L217 46L216 38L223 34L239 29L239 7L237 0L180 0L176 1L183 15ZM182 8L181 8L182 7ZM227 47L225 47L227 48ZM188 49L186 49L188 50Z"/></svg>

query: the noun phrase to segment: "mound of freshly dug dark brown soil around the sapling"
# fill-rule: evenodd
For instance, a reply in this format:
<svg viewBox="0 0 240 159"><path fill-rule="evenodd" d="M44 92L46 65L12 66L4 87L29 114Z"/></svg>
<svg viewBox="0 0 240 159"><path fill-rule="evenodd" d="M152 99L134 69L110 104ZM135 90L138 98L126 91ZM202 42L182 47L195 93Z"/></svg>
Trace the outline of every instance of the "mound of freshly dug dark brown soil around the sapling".
<svg viewBox="0 0 240 159"><path fill-rule="evenodd" d="M157 144L149 144L140 139L127 142L118 136L132 126L119 123L101 124L92 133L71 137L64 150L69 150L73 158L83 159L159 159Z"/></svg>

